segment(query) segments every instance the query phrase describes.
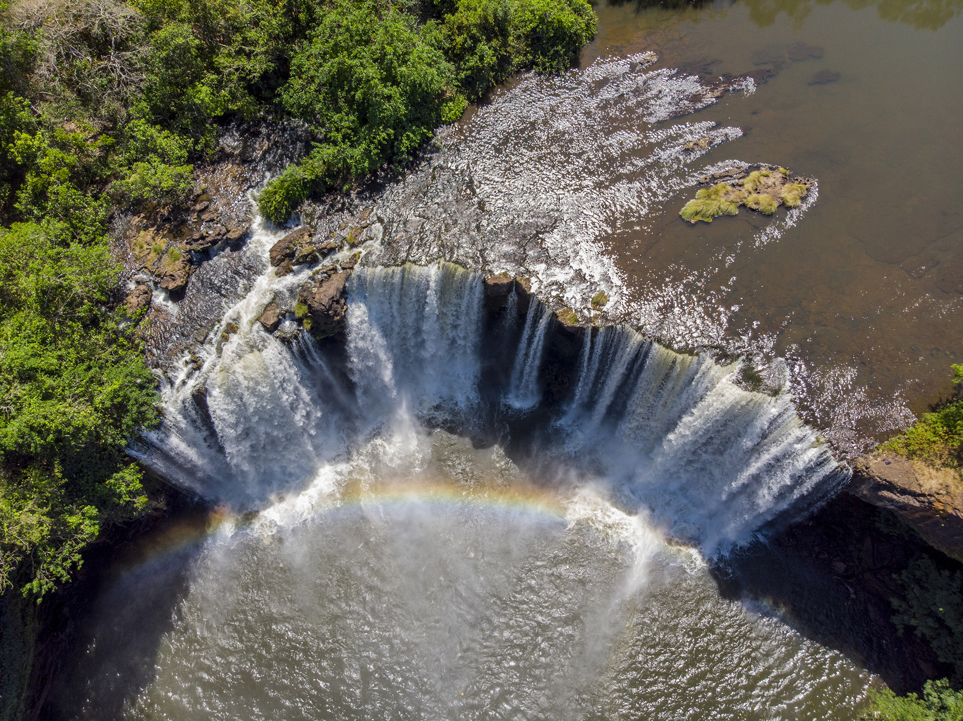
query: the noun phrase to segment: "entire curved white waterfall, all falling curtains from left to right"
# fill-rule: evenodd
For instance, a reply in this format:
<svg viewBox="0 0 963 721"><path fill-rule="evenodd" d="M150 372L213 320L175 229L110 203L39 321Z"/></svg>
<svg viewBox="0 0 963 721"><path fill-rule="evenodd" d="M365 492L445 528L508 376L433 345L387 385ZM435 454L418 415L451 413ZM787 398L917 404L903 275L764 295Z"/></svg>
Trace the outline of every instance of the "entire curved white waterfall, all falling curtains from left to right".
<svg viewBox="0 0 963 721"><path fill-rule="evenodd" d="M544 405L539 373L557 362L545 358L554 315L533 298L520 334L503 323L486 330L481 275L448 263L354 269L344 342L301 333L286 345L255 319L308 276L265 270L227 309L221 323L237 331L215 328L199 361L185 359L166 385L164 424L134 450L144 462L208 498L260 507L399 419L478 437L498 415L486 403L506 404L508 427L523 438L538 407L550 415L553 463L708 554L748 541L843 477L790 396L743 390L738 365L673 352L624 326L586 331L568 398ZM516 322L515 303L509 296L505 322ZM506 387L481 389L482 369L507 357Z"/></svg>

